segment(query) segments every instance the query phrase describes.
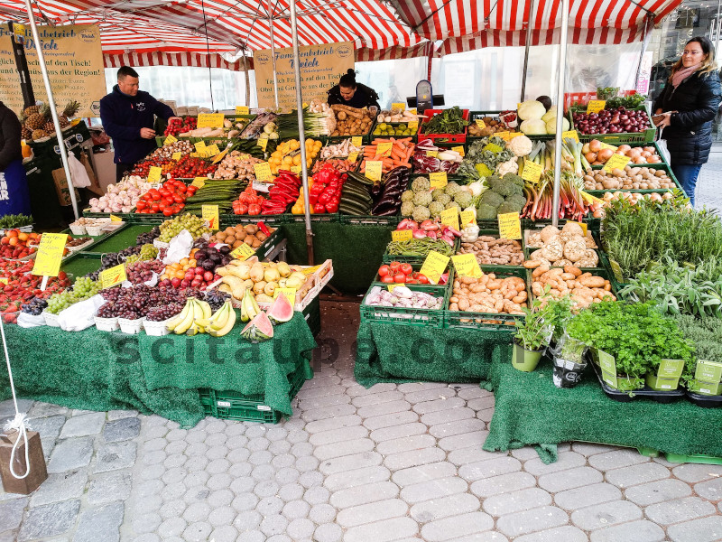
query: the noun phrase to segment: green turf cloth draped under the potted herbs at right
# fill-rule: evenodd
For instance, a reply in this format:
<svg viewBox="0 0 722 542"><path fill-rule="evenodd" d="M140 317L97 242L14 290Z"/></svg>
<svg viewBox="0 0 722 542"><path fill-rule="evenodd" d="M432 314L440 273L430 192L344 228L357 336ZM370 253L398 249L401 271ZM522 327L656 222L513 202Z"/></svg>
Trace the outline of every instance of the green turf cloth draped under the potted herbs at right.
<svg viewBox="0 0 722 542"><path fill-rule="evenodd" d="M606 397L591 367L570 389L556 388L551 373L549 360L531 373L510 361L492 366L495 407L485 450L542 444L540 456L549 463L556 444L584 441L722 457L722 408L700 408L684 397L668 405L642 397L619 403Z"/></svg>

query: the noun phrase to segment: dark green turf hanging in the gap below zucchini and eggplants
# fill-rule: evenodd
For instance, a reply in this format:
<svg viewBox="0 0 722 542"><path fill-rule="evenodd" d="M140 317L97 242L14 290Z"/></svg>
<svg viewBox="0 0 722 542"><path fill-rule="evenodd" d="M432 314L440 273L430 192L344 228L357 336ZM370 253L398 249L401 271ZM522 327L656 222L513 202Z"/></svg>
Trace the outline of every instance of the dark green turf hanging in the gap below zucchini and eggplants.
<svg viewBox="0 0 722 542"><path fill-rule="evenodd" d="M315 262L333 260L330 284L344 294L366 293L381 266L394 227L313 222L311 229ZM307 265L305 223L283 224L282 232L288 239L289 263Z"/></svg>

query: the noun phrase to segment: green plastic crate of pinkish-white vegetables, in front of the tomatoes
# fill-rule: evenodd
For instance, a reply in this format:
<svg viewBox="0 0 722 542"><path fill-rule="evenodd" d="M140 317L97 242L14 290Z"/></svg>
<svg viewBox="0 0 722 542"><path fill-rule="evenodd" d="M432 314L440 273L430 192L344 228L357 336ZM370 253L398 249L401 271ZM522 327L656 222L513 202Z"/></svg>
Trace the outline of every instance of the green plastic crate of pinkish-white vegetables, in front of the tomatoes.
<svg viewBox="0 0 722 542"><path fill-rule="evenodd" d="M444 310L443 307L449 304L449 288L448 285L405 285L412 291L424 292L434 297L443 297L444 304L442 308L436 310L430 309L411 309L405 307L379 307L366 304L366 296L375 287L385 288L388 285L382 283L371 283L364 300L361 302L361 322L381 322L395 323L400 325L422 326L427 328L441 329L444 327Z"/></svg>

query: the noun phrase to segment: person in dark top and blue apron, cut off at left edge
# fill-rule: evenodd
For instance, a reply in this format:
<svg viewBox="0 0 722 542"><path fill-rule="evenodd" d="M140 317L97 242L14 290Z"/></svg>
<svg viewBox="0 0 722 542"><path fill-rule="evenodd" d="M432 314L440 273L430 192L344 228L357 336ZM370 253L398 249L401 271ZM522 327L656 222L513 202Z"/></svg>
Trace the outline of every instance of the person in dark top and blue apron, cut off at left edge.
<svg viewBox="0 0 722 542"><path fill-rule="evenodd" d="M31 213L20 135L17 115L0 102L0 216L3 217Z"/></svg>

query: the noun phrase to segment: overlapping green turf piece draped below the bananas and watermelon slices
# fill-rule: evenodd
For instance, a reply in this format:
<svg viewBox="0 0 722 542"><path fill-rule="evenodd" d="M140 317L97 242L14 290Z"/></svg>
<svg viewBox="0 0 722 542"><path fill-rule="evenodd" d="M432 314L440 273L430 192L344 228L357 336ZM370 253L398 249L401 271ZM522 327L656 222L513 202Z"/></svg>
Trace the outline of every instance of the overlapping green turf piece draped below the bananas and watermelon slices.
<svg viewBox="0 0 722 542"><path fill-rule="evenodd" d="M273 340L251 344L240 336L245 323L225 337L138 335L148 389L232 389L244 395L264 394L265 404L292 415L287 375L299 358L310 360L316 341L301 313L273 328ZM306 377L313 373L305 364Z"/></svg>

